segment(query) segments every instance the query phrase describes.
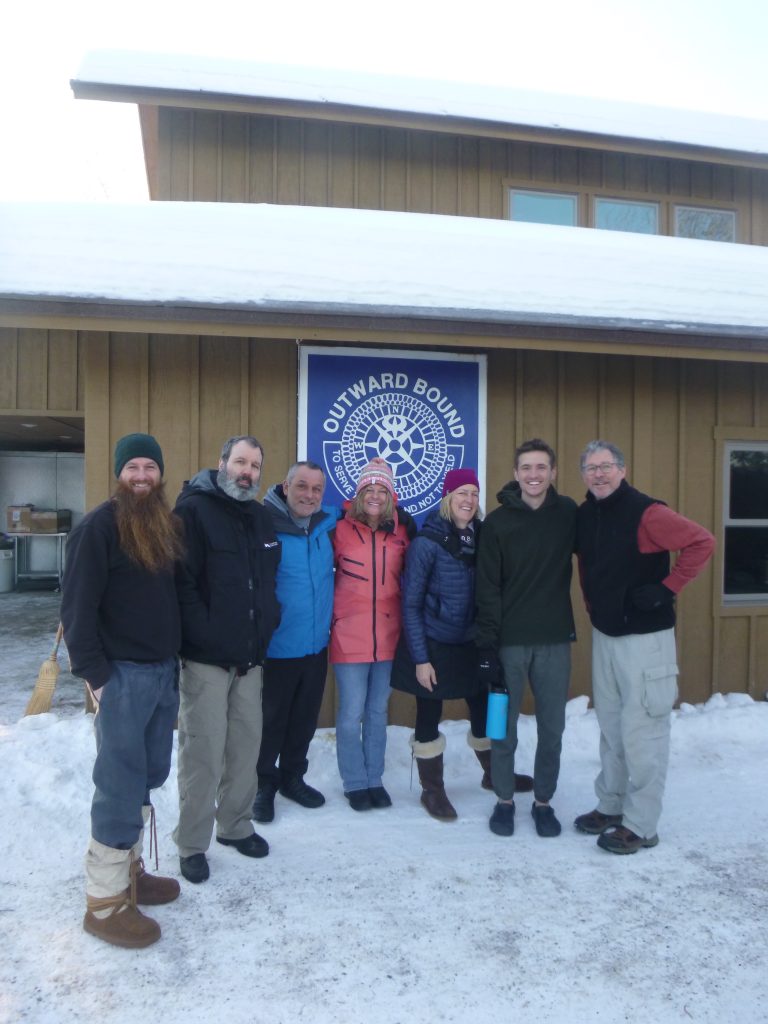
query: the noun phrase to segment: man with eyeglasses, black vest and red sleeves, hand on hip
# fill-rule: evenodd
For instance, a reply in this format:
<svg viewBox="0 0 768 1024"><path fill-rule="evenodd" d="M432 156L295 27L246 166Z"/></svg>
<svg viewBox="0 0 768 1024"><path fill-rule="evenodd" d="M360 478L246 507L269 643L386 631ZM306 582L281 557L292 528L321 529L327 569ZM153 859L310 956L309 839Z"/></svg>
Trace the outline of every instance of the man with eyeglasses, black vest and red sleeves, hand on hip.
<svg viewBox="0 0 768 1024"><path fill-rule="evenodd" d="M615 444L590 441L581 468L588 493L577 550L593 627L601 771L597 807L574 824L609 853L635 853L658 843L678 693L675 597L707 564L715 538L630 486ZM671 567L673 551L679 554Z"/></svg>

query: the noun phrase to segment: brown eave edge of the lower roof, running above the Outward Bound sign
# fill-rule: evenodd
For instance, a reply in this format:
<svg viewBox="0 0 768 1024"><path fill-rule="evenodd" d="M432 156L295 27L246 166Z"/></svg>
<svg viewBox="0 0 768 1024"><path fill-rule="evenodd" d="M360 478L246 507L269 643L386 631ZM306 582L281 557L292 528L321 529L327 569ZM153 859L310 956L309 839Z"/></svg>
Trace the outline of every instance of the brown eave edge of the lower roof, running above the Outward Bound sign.
<svg viewBox="0 0 768 1024"><path fill-rule="evenodd" d="M205 333L260 337L382 335L382 340L430 344L430 336L460 345L519 347L541 343L579 351L768 361L768 326L659 324L621 317L552 313L360 307L312 303L212 305L173 302L99 302L46 296L0 297L0 327ZM505 341L508 346L505 346Z"/></svg>

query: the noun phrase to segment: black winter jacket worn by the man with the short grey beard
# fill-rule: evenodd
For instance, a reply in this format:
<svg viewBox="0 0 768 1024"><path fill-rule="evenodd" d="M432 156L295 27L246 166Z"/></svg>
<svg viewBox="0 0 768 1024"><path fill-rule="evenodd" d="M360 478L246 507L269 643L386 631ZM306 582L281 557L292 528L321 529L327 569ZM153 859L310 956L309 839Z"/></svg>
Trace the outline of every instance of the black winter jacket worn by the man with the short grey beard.
<svg viewBox="0 0 768 1024"><path fill-rule="evenodd" d="M280 624L271 516L256 501L229 498L212 469L184 484L175 512L186 545L177 575L181 656L222 669L261 665Z"/></svg>

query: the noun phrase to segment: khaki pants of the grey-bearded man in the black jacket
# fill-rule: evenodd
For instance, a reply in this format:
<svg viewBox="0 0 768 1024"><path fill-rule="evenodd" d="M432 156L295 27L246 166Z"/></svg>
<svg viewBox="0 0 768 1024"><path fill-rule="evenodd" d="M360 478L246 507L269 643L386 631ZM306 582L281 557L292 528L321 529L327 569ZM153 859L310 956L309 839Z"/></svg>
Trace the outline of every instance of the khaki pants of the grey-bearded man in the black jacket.
<svg viewBox="0 0 768 1024"><path fill-rule="evenodd" d="M213 834L246 839L253 831L256 763L261 743L261 669L186 662L179 683L179 856L205 853Z"/></svg>

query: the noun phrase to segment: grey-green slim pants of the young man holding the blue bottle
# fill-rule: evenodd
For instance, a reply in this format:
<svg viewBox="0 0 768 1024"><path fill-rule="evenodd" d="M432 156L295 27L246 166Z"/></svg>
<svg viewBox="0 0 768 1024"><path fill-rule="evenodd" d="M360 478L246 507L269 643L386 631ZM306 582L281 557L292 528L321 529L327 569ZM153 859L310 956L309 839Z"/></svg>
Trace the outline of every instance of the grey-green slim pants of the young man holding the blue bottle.
<svg viewBox="0 0 768 1024"><path fill-rule="evenodd" d="M536 701L534 796L542 803L547 803L555 794L560 774L565 703L570 683L570 644L502 647L499 657L504 667L504 681L509 693L509 712L506 737L490 742L494 790L500 800L512 800L515 795L517 719L527 682Z"/></svg>

